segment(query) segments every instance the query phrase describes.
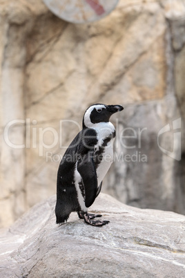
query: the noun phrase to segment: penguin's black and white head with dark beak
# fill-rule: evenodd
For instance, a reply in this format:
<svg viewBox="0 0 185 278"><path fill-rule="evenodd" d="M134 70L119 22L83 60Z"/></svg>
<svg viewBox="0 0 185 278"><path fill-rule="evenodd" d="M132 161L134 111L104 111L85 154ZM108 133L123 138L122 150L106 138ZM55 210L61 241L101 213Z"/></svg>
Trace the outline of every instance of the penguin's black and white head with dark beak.
<svg viewBox="0 0 185 278"><path fill-rule="evenodd" d="M99 122L109 122L110 116L124 109L121 105L93 104L84 113L83 128Z"/></svg>

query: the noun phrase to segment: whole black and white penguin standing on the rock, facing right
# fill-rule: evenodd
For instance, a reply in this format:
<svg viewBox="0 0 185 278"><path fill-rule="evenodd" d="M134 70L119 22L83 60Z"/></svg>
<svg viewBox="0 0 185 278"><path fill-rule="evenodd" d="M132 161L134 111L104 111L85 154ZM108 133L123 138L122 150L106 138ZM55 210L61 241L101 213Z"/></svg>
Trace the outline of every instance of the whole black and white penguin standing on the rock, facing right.
<svg viewBox="0 0 185 278"><path fill-rule="evenodd" d="M86 109L82 130L70 143L57 172L56 223L63 224L71 212L93 226L110 221L95 220L101 214L88 213L101 191L102 180L113 163L115 127L110 116L124 108L121 105L93 104Z"/></svg>

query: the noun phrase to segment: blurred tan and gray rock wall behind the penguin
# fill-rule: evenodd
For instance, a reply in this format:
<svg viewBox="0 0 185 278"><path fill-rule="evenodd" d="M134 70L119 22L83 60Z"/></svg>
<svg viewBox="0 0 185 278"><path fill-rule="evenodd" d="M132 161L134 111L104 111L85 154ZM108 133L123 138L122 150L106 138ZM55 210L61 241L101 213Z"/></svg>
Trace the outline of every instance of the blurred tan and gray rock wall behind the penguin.
<svg viewBox="0 0 185 278"><path fill-rule="evenodd" d="M0 0L0 227L56 192L90 104L121 104L106 192L185 214L185 1L119 0L73 24L41 0Z"/></svg>

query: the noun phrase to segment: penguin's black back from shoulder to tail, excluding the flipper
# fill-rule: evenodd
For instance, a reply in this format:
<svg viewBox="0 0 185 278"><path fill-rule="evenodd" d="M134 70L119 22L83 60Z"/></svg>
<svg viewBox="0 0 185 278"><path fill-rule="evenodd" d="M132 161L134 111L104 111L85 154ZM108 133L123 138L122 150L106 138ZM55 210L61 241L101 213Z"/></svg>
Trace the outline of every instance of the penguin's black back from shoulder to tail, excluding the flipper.
<svg viewBox="0 0 185 278"><path fill-rule="evenodd" d="M88 154L97 144L95 129L82 129L70 143L59 165L57 174L57 203L55 214L57 223L68 220L70 212L79 212L77 190L75 188L75 168L79 158Z"/></svg>

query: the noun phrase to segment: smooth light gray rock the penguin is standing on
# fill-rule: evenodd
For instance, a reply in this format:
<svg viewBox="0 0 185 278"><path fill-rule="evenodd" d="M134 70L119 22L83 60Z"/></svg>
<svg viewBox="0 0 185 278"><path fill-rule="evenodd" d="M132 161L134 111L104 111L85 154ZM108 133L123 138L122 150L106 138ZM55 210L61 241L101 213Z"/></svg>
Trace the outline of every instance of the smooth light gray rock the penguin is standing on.
<svg viewBox="0 0 185 278"><path fill-rule="evenodd" d="M185 216L142 210L100 194L101 228L72 213L55 224L55 196L1 232L3 277L184 277Z"/></svg>

